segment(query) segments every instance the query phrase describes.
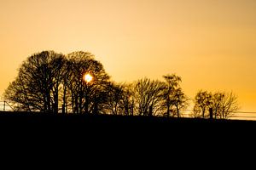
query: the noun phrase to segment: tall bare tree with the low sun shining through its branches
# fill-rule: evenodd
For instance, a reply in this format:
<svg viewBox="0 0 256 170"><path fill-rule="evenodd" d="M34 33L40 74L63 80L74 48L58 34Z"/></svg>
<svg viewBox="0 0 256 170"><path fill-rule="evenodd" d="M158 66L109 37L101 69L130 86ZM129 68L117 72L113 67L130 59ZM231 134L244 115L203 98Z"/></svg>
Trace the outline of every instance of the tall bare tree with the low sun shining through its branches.
<svg viewBox="0 0 256 170"><path fill-rule="evenodd" d="M67 54L67 59L67 87L71 94L73 113L98 111L105 100L102 92L109 80L103 65L95 59L93 54L81 51ZM86 73L92 75L92 82L84 81Z"/></svg>

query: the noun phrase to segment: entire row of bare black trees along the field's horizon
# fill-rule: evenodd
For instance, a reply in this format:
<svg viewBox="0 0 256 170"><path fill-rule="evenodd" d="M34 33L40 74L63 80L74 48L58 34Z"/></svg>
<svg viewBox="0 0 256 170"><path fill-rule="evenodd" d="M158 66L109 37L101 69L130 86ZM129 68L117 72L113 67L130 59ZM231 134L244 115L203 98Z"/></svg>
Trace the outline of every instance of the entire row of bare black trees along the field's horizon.
<svg viewBox="0 0 256 170"><path fill-rule="evenodd" d="M92 81L84 81L84 75ZM44 51L23 62L4 98L16 111L179 117L189 105L180 82L175 74L164 76L163 82L148 78L130 84L111 82L93 54ZM209 108L216 118L227 118L237 109L236 96L199 92L194 116L207 117Z"/></svg>

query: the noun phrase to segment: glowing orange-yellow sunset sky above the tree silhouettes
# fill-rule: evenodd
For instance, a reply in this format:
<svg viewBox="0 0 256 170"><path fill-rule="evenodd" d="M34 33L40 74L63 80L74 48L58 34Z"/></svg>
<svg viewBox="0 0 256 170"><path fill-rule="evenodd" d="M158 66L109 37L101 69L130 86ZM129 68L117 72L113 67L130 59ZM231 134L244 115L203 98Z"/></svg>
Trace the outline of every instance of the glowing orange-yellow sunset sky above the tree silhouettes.
<svg viewBox="0 0 256 170"><path fill-rule="evenodd" d="M255 0L0 0L0 94L35 52L96 55L118 82L183 78L256 111Z"/></svg>

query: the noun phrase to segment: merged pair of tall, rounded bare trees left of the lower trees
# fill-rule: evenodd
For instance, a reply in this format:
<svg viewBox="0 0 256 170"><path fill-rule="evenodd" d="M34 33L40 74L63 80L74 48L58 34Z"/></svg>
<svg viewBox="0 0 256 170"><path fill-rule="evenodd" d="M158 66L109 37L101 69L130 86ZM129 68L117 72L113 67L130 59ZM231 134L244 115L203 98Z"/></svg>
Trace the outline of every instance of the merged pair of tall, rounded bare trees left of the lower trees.
<svg viewBox="0 0 256 170"><path fill-rule="evenodd" d="M92 82L84 81L85 73L92 75ZM92 113L106 103L108 80L103 65L90 53L74 52L66 58L43 51L26 59L4 97L18 111L58 113L62 105L64 113Z"/></svg>

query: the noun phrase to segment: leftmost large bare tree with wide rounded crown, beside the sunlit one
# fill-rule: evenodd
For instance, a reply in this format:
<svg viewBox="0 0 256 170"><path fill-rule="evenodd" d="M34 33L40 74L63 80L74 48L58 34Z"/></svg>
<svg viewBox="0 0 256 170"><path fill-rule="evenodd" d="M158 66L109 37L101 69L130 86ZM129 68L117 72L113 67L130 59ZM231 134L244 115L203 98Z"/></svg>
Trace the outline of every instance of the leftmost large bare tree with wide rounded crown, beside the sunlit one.
<svg viewBox="0 0 256 170"><path fill-rule="evenodd" d="M53 51L33 54L4 93L18 111L58 112L64 56Z"/></svg>

